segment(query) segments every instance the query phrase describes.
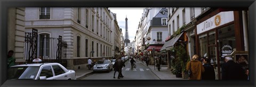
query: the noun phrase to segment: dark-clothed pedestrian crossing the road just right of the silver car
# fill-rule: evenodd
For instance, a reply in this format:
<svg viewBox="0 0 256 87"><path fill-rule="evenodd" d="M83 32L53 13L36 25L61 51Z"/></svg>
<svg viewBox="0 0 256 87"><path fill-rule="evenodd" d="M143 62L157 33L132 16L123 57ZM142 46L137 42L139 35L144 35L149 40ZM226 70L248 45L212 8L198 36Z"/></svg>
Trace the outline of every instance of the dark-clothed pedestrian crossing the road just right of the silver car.
<svg viewBox="0 0 256 87"><path fill-rule="evenodd" d="M115 66L117 71L118 71L117 79L120 79L120 77L124 77L123 74L122 74L122 67L123 66L125 67L124 62L122 61L121 58L118 58L116 60L116 66Z"/></svg>

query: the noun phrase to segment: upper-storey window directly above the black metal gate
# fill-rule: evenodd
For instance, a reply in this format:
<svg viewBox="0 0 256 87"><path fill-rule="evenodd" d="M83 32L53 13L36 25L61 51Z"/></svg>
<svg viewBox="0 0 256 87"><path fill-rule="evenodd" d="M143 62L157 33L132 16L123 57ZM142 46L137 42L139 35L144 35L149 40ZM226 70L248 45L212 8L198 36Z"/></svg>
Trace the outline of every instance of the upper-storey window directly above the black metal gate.
<svg viewBox="0 0 256 87"><path fill-rule="evenodd" d="M41 7L39 12L39 19L50 19L50 7Z"/></svg>

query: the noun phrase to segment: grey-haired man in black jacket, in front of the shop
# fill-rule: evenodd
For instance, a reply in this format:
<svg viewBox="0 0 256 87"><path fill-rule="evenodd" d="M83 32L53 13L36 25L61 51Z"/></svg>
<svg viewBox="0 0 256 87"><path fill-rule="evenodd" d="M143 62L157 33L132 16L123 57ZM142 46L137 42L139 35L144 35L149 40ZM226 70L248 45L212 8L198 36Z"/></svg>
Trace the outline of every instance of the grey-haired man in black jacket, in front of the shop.
<svg viewBox="0 0 256 87"><path fill-rule="evenodd" d="M234 62L231 55L225 56L225 62L221 65L222 80L246 80L243 68Z"/></svg>

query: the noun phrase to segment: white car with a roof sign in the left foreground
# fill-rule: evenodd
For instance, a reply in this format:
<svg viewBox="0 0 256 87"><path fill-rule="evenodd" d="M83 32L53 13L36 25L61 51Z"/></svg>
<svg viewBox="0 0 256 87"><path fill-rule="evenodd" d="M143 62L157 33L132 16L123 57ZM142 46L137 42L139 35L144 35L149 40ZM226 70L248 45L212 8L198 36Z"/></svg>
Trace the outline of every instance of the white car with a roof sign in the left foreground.
<svg viewBox="0 0 256 87"><path fill-rule="evenodd" d="M9 80L76 80L74 70L59 63L36 63L15 65L8 68Z"/></svg>

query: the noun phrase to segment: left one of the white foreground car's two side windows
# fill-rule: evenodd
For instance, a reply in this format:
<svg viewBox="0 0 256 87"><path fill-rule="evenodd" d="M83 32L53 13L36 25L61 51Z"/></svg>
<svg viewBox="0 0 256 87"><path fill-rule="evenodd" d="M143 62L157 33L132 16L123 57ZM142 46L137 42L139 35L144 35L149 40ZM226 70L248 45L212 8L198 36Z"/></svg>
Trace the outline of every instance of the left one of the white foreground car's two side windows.
<svg viewBox="0 0 256 87"><path fill-rule="evenodd" d="M39 76L46 76L46 78L52 77L53 73L52 73L52 68L51 66L45 66L42 68L42 71L40 73Z"/></svg>

